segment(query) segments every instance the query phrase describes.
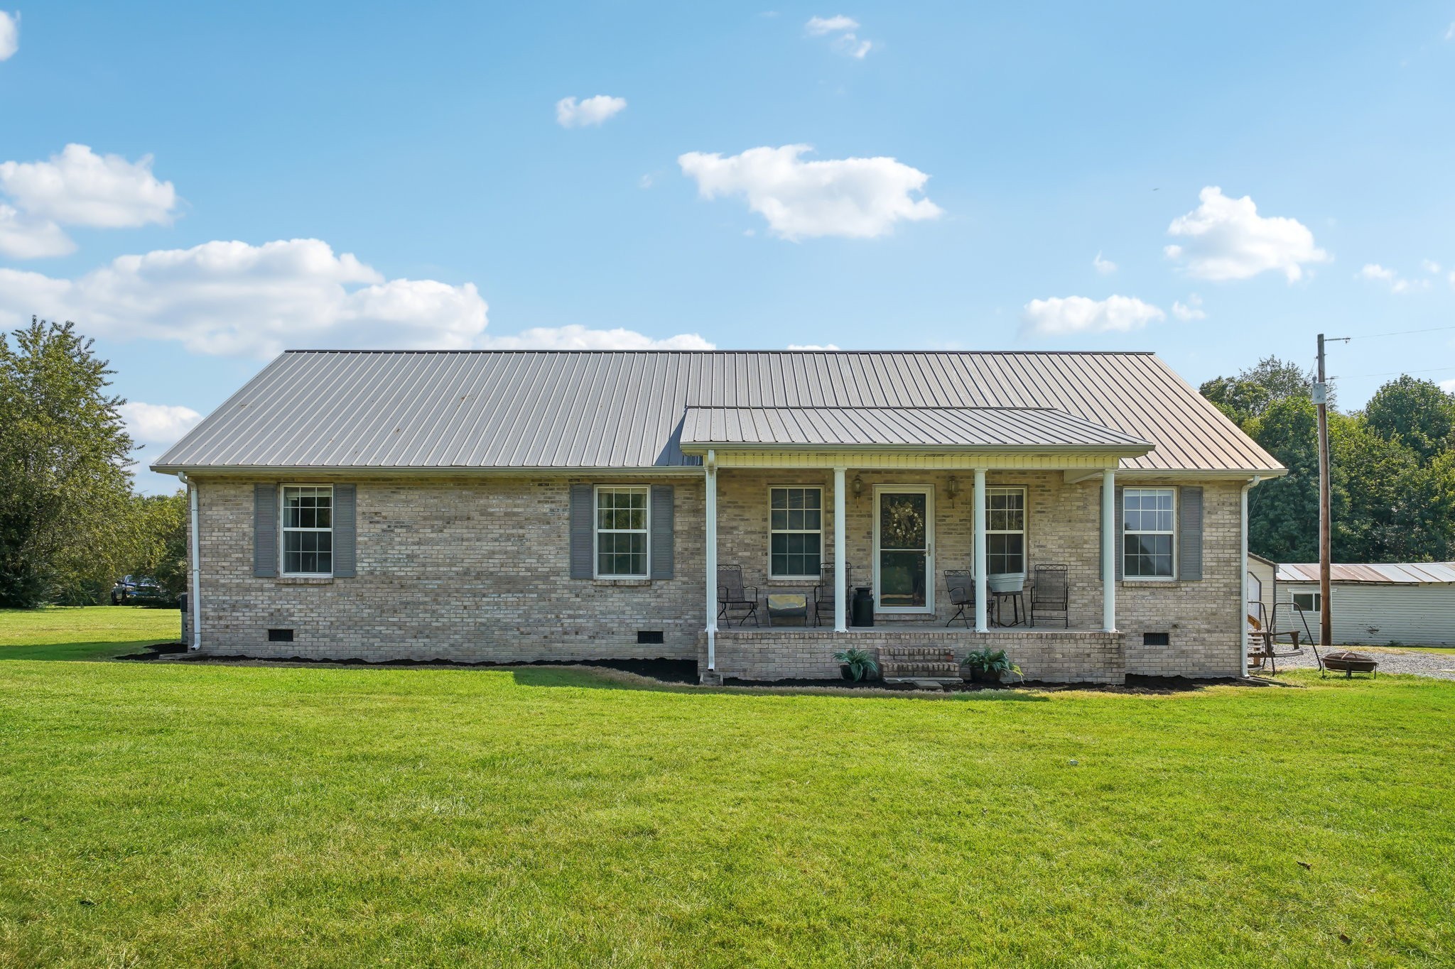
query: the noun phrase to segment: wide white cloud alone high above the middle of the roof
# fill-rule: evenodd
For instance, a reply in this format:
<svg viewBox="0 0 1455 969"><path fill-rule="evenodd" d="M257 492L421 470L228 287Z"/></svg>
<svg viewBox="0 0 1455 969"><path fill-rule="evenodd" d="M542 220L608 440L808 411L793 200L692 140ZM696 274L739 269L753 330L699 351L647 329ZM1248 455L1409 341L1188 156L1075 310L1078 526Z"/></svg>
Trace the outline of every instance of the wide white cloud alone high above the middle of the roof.
<svg viewBox="0 0 1455 969"><path fill-rule="evenodd" d="M895 158L805 161L809 145L748 148L723 157L690 151L678 157L682 174L697 180L704 199L741 195L774 234L787 240L842 235L874 238L895 222L938 218L922 195L928 174Z"/></svg>

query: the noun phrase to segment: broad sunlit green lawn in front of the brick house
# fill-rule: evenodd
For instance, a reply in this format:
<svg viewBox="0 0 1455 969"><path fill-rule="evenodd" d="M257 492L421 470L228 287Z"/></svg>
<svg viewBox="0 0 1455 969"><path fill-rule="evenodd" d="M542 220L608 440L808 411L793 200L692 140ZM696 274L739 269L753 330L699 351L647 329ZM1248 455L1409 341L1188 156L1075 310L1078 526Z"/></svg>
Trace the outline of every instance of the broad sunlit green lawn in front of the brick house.
<svg viewBox="0 0 1455 969"><path fill-rule="evenodd" d="M623 680L0 662L0 965L1455 962L1455 683Z"/></svg>

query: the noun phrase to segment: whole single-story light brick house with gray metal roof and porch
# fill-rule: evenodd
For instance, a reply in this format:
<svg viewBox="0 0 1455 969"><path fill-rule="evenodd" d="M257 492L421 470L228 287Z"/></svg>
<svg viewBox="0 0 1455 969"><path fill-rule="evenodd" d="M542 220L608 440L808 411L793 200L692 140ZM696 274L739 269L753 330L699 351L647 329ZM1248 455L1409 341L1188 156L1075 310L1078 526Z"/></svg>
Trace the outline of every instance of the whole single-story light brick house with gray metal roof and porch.
<svg viewBox="0 0 1455 969"><path fill-rule="evenodd" d="M1154 354L938 352L288 352L153 469L191 492L194 649L709 683L835 677L847 646L1240 676L1247 491L1283 474ZM1067 615L995 625L988 577L1046 564ZM719 565L760 601L847 594L741 625ZM976 594L946 626L950 569Z"/></svg>

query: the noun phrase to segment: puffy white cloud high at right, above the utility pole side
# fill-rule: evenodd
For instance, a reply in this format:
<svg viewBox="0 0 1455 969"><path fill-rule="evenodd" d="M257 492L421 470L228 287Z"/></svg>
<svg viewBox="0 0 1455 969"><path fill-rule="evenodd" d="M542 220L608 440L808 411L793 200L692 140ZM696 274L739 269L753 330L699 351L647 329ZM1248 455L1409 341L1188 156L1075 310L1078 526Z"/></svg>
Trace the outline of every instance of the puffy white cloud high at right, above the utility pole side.
<svg viewBox="0 0 1455 969"><path fill-rule="evenodd" d="M1304 266L1328 260L1314 244L1307 225L1291 218L1259 215L1253 199L1229 199L1218 186L1205 187L1202 205L1173 219L1167 232L1184 240L1167 246L1170 259L1199 279L1248 279L1277 270L1289 282L1304 276Z"/></svg>

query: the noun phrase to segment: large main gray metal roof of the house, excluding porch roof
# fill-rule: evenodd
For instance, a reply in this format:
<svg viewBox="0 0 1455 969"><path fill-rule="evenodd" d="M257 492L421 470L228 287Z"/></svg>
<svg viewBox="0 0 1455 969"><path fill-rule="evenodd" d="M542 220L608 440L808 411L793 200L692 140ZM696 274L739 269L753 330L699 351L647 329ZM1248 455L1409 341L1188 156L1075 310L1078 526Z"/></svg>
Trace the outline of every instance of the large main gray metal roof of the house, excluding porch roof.
<svg viewBox="0 0 1455 969"><path fill-rule="evenodd" d="M1053 408L1145 471L1280 472L1149 353L291 350L157 471L695 465L688 407Z"/></svg>

